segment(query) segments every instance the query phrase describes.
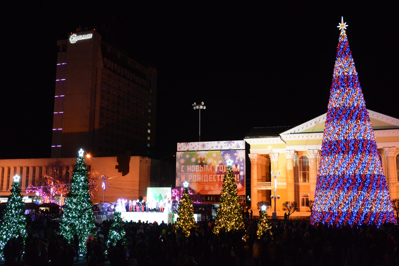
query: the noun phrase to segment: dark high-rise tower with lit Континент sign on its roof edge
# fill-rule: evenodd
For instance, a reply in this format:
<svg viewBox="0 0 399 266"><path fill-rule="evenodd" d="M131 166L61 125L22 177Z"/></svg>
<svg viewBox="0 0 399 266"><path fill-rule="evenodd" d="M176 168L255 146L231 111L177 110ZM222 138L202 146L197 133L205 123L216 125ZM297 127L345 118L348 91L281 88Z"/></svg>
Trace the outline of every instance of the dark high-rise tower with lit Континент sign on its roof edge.
<svg viewBox="0 0 399 266"><path fill-rule="evenodd" d="M95 30L57 41L52 158L131 151L155 143L157 72L101 40Z"/></svg>

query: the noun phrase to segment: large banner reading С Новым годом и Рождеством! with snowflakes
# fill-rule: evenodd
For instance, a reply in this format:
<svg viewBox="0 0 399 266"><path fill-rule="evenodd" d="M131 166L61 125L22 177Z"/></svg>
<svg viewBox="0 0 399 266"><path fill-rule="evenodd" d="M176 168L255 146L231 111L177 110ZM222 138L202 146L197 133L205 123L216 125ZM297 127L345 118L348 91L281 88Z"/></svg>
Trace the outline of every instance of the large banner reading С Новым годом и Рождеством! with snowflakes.
<svg viewBox="0 0 399 266"><path fill-rule="evenodd" d="M220 194L227 161L232 161L237 191L245 195L245 150L178 151L176 187L188 182L200 194Z"/></svg>

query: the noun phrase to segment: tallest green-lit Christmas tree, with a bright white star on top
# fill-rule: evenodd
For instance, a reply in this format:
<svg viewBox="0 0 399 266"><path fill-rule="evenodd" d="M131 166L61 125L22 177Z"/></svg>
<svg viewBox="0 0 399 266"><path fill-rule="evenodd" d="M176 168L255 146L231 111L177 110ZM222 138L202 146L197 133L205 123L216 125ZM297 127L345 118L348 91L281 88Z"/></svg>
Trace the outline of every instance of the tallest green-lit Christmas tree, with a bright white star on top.
<svg viewBox="0 0 399 266"><path fill-rule="evenodd" d="M81 149L79 157L76 159L75 169L73 169L72 173L71 188L67 195L60 225L61 234L65 238L71 239L74 234L79 236L81 252L85 252L87 236L95 224L83 152Z"/></svg>

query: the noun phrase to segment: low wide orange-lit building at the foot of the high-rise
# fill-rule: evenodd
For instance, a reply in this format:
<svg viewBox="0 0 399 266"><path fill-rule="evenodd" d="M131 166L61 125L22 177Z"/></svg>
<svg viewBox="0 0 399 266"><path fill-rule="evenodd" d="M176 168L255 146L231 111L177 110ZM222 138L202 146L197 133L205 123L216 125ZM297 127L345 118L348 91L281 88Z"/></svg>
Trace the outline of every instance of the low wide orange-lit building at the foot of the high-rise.
<svg viewBox="0 0 399 266"><path fill-rule="evenodd" d="M146 198L147 187L156 186L150 183L151 159L147 157L131 156L120 160L120 157L87 158L87 170L96 179L98 191L94 193L93 203L116 202L117 199ZM51 165L59 160L56 170ZM20 176L21 194L33 200L43 200L36 193L26 193L28 187L45 187L45 175L53 175L57 171L59 175L69 180L72 177L75 158L42 158L42 159L6 159L0 160L0 201L7 201L15 175ZM102 165L101 165L102 164ZM104 167L103 167L104 166ZM102 175L108 179L105 181L105 193L102 188ZM43 189L44 190L44 189ZM57 195L58 198L61 195ZM63 195L65 196L65 195Z"/></svg>

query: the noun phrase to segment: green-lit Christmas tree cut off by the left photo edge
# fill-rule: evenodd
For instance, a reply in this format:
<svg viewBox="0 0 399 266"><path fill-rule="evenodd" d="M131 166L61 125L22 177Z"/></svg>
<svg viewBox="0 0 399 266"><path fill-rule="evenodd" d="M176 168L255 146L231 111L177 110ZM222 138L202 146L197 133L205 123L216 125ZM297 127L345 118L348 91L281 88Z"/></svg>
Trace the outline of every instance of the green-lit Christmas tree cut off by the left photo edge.
<svg viewBox="0 0 399 266"><path fill-rule="evenodd" d="M7 241L11 238L18 237L20 233L26 236L26 217L25 217L25 203L22 201L20 177L14 176L12 183L11 195L8 198L6 210L2 218L0 226L0 254L3 253L3 248Z"/></svg>

